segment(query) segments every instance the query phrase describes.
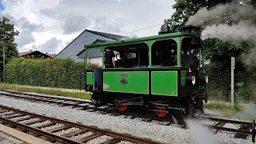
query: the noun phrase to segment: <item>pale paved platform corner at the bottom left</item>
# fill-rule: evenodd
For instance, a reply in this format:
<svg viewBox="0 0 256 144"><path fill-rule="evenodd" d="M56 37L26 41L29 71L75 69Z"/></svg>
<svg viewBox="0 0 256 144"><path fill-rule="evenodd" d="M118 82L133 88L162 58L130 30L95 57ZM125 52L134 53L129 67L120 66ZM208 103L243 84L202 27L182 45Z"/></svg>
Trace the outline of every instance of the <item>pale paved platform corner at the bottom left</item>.
<svg viewBox="0 0 256 144"><path fill-rule="evenodd" d="M36 138L30 134L25 134L21 131L12 129L8 126L0 124L0 144L50 144L45 140Z"/></svg>

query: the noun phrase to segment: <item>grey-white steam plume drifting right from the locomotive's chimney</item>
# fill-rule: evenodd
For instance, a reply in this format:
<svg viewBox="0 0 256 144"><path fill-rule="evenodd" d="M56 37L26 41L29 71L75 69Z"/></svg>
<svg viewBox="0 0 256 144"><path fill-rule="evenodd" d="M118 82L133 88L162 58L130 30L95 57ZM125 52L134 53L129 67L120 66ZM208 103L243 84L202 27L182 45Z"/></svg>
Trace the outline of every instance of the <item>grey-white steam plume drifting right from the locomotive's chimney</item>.
<svg viewBox="0 0 256 144"><path fill-rule="evenodd" d="M202 8L191 16L186 25L206 26L202 38L219 38L230 42L250 42L250 50L242 54L246 66L256 66L256 10L250 0L234 0L219 4L212 9Z"/></svg>

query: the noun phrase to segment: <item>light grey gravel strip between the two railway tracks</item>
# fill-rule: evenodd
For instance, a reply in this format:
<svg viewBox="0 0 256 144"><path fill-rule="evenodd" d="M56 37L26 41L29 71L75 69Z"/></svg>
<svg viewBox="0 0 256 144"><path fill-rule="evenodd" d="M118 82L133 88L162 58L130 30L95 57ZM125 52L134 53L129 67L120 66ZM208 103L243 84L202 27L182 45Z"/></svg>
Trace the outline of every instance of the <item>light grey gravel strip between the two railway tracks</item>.
<svg viewBox="0 0 256 144"><path fill-rule="evenodd" d="M50 106L42 103L26 102L12 98L1 98L1 105L13 106L37 114L62 118L71 122L82 122L89 126L114 130L120 133L132 134L142 138L150 138L164 143L205 143L200 139L207 138L210 143L252 143L251 140L233 138L234 134L212 134L198 122L190 122L190 129L182 129L178 125L162 126L156 122L143 122L141 118L128 119L125 116L98 114L86 110L70 109L68 107ZM54 126L53 126L54 127ZM198 129L200 127L200 129ZM48 128L49 129L49 128ZM107 139L107 137L104 137ZM250 138L250 137L249 137ZM212 142L210 141L212 139ZM100 142L100 141L99 141Z"/></svg>

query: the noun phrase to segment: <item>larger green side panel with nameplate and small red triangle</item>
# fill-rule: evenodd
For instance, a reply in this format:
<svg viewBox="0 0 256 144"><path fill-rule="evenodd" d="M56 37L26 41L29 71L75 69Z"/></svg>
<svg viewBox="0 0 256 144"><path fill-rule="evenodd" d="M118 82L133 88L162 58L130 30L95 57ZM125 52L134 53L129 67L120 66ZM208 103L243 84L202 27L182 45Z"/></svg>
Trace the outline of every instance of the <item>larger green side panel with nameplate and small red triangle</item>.
<svg viewBox="0 0 256 144"><path fill-rule="evenodd" d="M149 72L104 71L103 91L149 94Z"/></svg>

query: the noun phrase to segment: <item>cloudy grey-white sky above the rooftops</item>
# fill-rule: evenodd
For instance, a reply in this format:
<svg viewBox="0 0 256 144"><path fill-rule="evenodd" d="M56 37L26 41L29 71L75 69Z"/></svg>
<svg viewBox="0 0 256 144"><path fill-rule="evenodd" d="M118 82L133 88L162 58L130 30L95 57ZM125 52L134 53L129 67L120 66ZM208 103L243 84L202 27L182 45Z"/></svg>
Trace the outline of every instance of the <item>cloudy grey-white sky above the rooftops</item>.
<svg viewBox="0 0 256 144"><path fill-rule="evenodd" d="M158 34L174 0L0 0L0 17L19 31L18 52L58 54L83 30L129 37ZM146 27L150 27L145 30ZM139 30L139 31L137 31Z"/></svg>

